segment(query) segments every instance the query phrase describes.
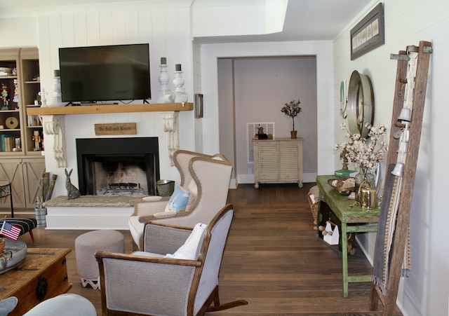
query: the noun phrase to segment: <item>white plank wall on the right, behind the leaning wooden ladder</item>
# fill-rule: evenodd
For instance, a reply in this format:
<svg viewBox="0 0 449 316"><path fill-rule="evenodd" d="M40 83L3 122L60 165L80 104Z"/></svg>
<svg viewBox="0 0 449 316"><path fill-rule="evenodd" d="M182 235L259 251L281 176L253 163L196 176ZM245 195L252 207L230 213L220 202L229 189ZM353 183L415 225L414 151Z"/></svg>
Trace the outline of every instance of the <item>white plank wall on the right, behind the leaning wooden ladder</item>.
<svg viewBox="0 0 449 316"><path fill-rule="evenodd" d="M370 76L375 94L375 125L391 122L396 60L390 54L406 50L420 41L433 42L427 82L427 95L417 162L415 191L410 219L412 271L403 278L398 305L404 315L448 315L449 252L445 242L445 225L449 221L445 167L449 149L446 136L449 126L447 62L449 52L449 3L445 0L384 0L385 44L351 61L349 32L378 1L373 1L334 42L335 111L339 109L339 83L349 81L351 71ZM336 141L344 139L335 116ZM340 162L335 160L335 166ZM375 235L359 238L368 255L373 257Z"/></svg>

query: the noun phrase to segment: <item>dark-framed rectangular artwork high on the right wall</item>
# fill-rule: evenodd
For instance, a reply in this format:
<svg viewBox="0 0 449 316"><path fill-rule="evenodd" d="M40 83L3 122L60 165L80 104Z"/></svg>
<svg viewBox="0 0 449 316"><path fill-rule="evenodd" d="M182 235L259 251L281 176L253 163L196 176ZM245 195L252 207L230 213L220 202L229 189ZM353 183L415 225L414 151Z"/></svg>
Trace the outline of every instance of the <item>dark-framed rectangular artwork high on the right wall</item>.
<svg viewBox="0 0 449 316"><path fill-rule="evenodd" d="M351 29L351 60L384 43L384 6L381 2Z"/></svg>

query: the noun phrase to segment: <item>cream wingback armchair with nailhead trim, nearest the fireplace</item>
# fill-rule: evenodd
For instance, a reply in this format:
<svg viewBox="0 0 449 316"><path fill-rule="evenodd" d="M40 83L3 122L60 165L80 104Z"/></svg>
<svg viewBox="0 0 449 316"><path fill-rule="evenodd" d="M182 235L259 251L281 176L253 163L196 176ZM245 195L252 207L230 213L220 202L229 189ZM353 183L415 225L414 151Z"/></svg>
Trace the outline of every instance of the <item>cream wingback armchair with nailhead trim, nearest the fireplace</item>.
<svg viewBox="0 0 449 316"><path fill-rule="evenodd" d="M182 212L166 212L168 197L148 197L135 202L135 212L129 218L128 226L136 250L141 249L145 222L159 221L185 227L200 222L208 224L226 205L232 163L225 156L176 151L173 158L181 174L181 186L189 192L187 207Z"/></svg>

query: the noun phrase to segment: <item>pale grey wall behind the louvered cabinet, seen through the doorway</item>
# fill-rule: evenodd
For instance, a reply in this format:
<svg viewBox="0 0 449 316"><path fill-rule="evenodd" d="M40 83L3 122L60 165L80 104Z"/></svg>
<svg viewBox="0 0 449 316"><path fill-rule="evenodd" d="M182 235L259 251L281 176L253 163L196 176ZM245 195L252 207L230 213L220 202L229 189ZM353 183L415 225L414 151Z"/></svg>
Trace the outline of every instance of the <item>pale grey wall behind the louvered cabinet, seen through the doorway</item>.
<svg viewBox="0 0 449 316"><path fill-rule="evenodd" d="M293 121L281 107L292 99L300 99L302 107L295 130L304 139L304 181L316 181L316 58L234 58L220 59L218 65L220 150L235 146L238 182L254 183L246 123L272 122L275 138L289 138Z"/></svg>

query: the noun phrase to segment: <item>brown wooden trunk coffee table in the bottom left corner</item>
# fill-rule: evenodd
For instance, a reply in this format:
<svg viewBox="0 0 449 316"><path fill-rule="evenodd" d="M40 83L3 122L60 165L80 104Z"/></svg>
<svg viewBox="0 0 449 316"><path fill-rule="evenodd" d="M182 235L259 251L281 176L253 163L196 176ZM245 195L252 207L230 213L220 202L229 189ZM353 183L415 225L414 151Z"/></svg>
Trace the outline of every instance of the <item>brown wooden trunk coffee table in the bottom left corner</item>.
<svg viewBox="0 0 449 316"><path fill-rule="evenodd" d="M69 291L72 283L65 259L69 252L69 248L27 249L17 268L0 275L0 300L10 296L19 300L8 316L23 315L41 301Z"/></svg>

